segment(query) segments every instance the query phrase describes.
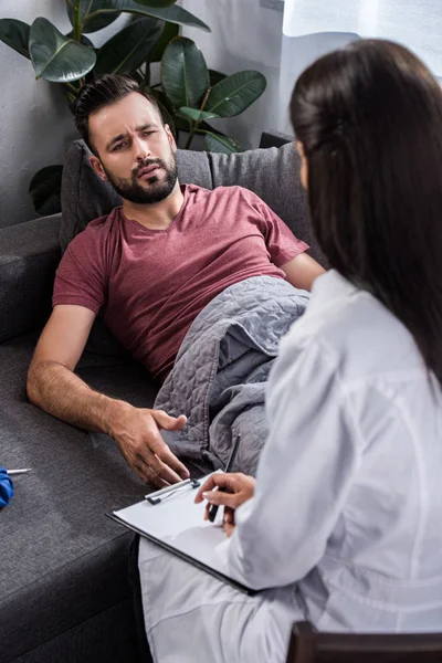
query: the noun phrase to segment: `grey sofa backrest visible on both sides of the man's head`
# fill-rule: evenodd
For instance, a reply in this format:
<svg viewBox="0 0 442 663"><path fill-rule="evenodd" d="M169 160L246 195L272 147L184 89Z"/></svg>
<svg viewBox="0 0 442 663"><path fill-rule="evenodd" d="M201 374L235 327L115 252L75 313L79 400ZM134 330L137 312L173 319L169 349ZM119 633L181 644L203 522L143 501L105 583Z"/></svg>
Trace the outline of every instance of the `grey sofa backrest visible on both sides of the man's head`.
<svg viewBox="0 0 442 663"><path fill-rule="evenodd" d="M66 154L60 231L63 251L90 221L122 204L113 187L96 176L90 157L91 151L83 140L75 140ZM322 261L309 230L305 193L299 178L299 157L293 143L280 148L254 149L229 156L178 150L177 165L178 178L183 185L194 183L206 189L238 185L254 191L297 238L311 244L311 254Z"/></svg>

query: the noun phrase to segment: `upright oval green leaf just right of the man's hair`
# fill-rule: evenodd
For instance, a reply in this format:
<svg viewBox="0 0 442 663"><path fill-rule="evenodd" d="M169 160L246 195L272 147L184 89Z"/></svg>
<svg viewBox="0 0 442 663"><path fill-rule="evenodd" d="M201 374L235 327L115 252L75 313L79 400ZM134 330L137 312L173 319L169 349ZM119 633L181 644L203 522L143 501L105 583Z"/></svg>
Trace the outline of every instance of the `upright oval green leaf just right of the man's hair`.
<svg viewBox="0 0 442 663"><path fill-rule="evenodd" d="M210 86L209 70L191 39L176 36L161 60L161 85L173 106L199 106Z"/></svg>

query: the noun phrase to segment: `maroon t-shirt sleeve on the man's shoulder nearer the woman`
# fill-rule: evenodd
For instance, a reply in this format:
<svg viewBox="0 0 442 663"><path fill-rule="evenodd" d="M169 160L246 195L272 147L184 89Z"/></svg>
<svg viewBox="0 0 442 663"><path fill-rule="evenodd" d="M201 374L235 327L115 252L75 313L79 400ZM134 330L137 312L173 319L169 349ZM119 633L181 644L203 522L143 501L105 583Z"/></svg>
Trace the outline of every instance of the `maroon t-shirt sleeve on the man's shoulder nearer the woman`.
<svg viewBox="0 0 442 663"><path fill-rule="evenodd" d="M288 225L261 198L251 193L251 202L259 211L259 227L264 235L271 261L276 267L308 251L309 245L295 238Z"/></svg>

